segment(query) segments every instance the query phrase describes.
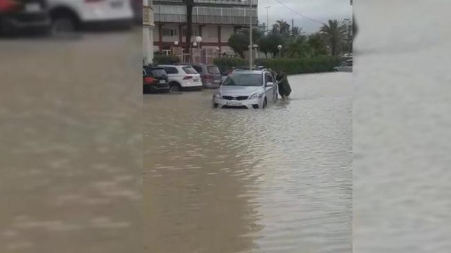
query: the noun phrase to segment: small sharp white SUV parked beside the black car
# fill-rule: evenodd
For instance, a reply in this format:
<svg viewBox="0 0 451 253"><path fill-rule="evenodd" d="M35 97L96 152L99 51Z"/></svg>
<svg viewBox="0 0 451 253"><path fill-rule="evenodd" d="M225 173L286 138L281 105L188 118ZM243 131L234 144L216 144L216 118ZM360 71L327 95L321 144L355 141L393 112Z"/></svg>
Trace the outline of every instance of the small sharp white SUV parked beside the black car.
<svg viewBox="0 0 451 253"><path fill-rule="evenodd" d="M192 66L158 65L165 69L171 91L201 90L200 74Z"/></svg>

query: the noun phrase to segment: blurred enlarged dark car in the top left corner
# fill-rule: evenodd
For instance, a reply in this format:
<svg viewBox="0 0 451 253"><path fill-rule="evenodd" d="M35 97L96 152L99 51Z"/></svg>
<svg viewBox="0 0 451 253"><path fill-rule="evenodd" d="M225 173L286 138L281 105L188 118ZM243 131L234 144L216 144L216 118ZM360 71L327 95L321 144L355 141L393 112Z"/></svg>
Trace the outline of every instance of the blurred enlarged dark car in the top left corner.
<svg viewBox="0 0 451 253"><path fill-rule="evenodd" d="M0 0L0 34L47 33L50 26L45 0Z"/></svg>

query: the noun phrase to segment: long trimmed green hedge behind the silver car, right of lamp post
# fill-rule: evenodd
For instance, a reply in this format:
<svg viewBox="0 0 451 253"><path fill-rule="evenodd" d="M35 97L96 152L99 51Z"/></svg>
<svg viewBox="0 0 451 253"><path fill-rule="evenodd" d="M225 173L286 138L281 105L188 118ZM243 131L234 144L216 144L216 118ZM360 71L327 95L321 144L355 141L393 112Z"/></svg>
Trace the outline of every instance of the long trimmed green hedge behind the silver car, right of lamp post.
<svg viewBox="0 0 451 253"><path fill-rule="evenodd" d="M335 56L317 56L312 58L276 58L256 59L255 63L275 71L282 70L287 75L330 72L338 66L343 59Z"/></svg>

